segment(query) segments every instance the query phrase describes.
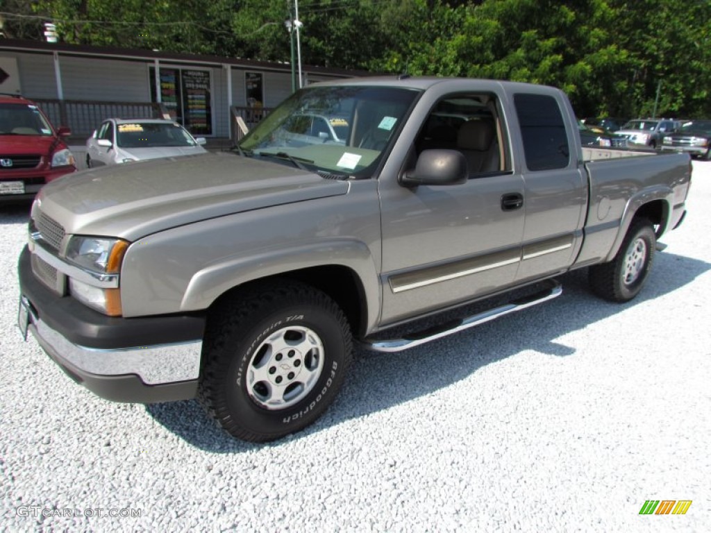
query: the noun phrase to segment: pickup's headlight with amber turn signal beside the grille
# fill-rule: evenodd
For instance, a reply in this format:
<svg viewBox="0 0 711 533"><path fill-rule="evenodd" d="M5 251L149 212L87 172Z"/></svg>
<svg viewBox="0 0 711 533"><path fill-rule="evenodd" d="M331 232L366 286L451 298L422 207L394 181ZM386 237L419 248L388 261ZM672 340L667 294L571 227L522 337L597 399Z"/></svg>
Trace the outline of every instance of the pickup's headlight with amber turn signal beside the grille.
<svg viewBox="0 0 711 533"><path fill-rule="evenodd" d="M117 279L129 243L109 237L71 237L66 258L89 276L69 279L72 296L86 306L108 316L120 316L121 294L117 286L107 281Z"/></svg>

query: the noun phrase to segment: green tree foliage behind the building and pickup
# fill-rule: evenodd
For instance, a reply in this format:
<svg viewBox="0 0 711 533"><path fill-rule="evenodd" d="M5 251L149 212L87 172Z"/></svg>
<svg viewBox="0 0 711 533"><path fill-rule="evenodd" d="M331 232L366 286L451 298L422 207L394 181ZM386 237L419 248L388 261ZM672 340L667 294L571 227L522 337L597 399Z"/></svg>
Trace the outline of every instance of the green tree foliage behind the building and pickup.
<svg viewBox="0 0 711 533"><path fill-rule="evenodd" d="M0 0L4 33L289 61L293 0ZM34 18L33 18L34 17ZM711 116L708 0L301 0L306 65L544 83L579 115Z"/></svg>

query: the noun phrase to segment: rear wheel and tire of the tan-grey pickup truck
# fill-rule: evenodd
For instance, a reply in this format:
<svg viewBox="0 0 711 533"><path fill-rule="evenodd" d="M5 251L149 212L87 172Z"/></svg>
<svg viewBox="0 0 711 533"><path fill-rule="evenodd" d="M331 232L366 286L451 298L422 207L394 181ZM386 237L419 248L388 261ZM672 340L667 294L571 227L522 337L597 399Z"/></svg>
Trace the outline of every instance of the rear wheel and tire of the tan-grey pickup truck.
<svg viewBox="0 0 711 533"><path fill-rule="evenodd" d="M592 291L609 301L629 301L642 290L649 276L656 248L652 223L646 219L632 222L614 259L591 266Z"/></svg>

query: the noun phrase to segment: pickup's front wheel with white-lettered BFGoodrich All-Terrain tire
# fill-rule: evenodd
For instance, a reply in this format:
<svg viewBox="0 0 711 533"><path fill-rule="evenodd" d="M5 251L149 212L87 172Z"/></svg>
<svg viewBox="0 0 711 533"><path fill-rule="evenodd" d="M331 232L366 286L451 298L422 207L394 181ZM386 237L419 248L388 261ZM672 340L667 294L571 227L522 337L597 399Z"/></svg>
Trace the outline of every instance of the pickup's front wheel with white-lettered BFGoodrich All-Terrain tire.
<svg viewBox="0 0 711 533"><path fill-rule="evenodd" d="M262 285L211 313L198 398L233 436L272 441L326 411L352 357L351 329L331 298L297 282Z"/></svg>

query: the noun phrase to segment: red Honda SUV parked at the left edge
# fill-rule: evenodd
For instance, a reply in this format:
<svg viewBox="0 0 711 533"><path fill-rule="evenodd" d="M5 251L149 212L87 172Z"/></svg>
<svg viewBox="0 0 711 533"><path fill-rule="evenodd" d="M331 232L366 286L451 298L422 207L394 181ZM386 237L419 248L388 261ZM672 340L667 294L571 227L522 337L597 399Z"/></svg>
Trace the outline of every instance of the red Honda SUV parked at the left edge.
<svg viewBox="0 0 711 533"><path fill-rule="evenodd" d="M55 178L77 170L62 140L71 131L55 129L42 110L18 95L0 95L0 203L30 199Z"/></svg>

